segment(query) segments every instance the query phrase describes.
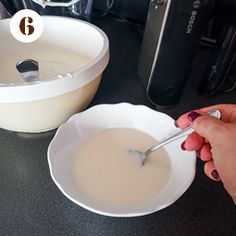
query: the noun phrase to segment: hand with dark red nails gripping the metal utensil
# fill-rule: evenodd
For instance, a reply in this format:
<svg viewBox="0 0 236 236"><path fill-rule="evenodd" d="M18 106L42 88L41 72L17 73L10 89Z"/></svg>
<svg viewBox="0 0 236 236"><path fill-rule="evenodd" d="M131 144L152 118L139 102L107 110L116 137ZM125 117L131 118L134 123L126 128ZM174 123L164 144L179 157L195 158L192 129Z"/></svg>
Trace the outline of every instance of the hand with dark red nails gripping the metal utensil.
<svg viewBox="0 0 236 236"><path fill-rule="evenodd" d="M206 115L213 109L221 111L220 120ZM236 105L198 109L180 116L175 123L180 128L192 126L195 132L187 137L181 148L197 152L206 162L206 175L212 180L221 180L236 204Z"/></svg>

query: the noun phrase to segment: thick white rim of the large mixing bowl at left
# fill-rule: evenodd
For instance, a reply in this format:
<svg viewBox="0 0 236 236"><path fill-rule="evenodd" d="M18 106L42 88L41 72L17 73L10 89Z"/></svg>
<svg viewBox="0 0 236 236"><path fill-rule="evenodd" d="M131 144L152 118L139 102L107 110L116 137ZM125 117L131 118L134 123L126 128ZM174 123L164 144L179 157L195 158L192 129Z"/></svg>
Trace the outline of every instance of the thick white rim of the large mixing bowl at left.
<svg viewBox="0 0 236 236"><path fill-rule="evenodd" d="M20 84L0 84L0 103L19 103L42 100L59 96L81 88L102 74L109 62L109 40L107 35L99 27L79 19L62 16L42 16L43 21L55 20L67 21L73 24L83 24L91 30L95 30L102 37L103 45L96 57L88 64L63 76L53 77L43 82L31 82ZM0 21L1 24L10 24L10 18ZM10 26L9 26L10 31ZM92 68L92 69L91 69ZM76 79L78 78L79 79Z"/></svg>

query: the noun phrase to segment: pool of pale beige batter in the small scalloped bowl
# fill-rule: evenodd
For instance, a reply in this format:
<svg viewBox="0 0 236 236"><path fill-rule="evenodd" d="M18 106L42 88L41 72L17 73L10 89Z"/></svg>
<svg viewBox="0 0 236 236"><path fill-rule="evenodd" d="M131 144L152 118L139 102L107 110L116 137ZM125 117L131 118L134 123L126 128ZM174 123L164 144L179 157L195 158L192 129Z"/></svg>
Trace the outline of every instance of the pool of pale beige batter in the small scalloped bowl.
<svg viewBox="0 0 236 236"><path fill-rule="evenodd" d="M78 188L93 201L106 206L130 206L152 199L168 182L170 159L161 148L145 165L129 152L157 143L135 129L113 128L86 139L74 158L73 177Z"/></svg>

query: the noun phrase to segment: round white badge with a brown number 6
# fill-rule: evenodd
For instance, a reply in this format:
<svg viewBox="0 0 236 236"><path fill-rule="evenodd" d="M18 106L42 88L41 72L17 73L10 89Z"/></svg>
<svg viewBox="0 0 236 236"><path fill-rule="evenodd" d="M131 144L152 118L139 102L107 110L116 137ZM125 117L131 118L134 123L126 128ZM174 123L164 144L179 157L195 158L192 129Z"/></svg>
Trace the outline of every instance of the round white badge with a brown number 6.
<svg viewBox="0 0 236 236"><path fill-rule="evenodd" d="M22 43L31 43L42 34L43 20L37 12L24 9L12 17L10 31L16 40Z"/></svg>

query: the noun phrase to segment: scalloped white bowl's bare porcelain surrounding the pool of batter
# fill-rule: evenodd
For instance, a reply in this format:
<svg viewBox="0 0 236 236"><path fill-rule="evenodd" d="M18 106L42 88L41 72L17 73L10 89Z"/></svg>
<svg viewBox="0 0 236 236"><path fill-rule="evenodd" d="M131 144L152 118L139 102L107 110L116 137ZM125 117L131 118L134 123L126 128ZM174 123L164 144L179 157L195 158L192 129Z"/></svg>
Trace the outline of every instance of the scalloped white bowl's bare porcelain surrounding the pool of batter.
<svg viewBox="0 0 236 236"><path fill-rule="evenodd" d="M164 189L153 199L129 207L107 207L89 199L74 185L71 170L73 156L80 143L95 132L117 127L138 129L157 140L178 130L171 117L142 105L121 103L94 106L72 116L59 127L52 140L48 149L48 163L55 184L76 204L107 216L141 216L174 203L187 190L195 176L196 157L194 153L181 150L183 139L166 145L171 163L170 178Z"/></svg>

